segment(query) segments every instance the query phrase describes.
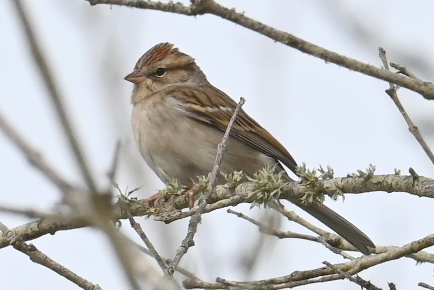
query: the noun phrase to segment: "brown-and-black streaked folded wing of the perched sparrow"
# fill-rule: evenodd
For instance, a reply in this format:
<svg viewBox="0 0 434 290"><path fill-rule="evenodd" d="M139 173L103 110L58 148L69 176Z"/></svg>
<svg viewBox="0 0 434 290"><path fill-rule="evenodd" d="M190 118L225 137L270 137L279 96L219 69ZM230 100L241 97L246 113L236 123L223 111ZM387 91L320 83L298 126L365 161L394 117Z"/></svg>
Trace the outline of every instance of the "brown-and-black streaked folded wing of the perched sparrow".
<svg viewBox="0 0 434 290"><path fill-rule="evenodd" d="M222 131L226 130L237 106L237 103L227 94L211 85L194 88L177 86L172 87L167 93L184 103L187 111L191 112L191 118L210 124ZM244 110L240 110L230 134L260 152L281 161L295 172L297 163L290 153Z"/></svg>

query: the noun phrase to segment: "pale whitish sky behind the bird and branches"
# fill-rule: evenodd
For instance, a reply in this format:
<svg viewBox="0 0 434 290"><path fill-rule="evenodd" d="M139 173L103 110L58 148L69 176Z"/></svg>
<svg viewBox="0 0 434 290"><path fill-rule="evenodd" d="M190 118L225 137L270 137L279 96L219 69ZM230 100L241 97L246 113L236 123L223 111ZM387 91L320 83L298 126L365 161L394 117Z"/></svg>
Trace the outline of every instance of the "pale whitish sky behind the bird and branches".
<svg viewBox="0 0 434 290"><path fill-rule="evenodd" d="M421 79L434 79L434 3L431 1L219 1L253 19L292 33L343 55L380 66L378 46L388 60L409 68ZM130 130L132 85L123 77L137 59L160 42L172 42L196 58L212 84L234 99L267 128L299 162L310 168L331 165L345 176L369 163L377 174L408 173L433 177L434 166L408 132L388 84L305 55L295 49L215 16L196 18L157 11L99 5L82 0L25 3L67 104L75 129L99 184L106 185L115 142L124 141L117 181L121 188L143 185L140 197L163 188L135 150ZM44 158L64 176L81 182L58 125L47 91L30 55L27 40L10 1L0 3L0 111ZM409 115L434 149L434 102L398 90ZM52 210L61 195L0 134L0 204ZM408 194L366 193L327 201L363 229L378 245L403 245L432 233L434 201ZM302 216L313 220L307 214ZM261 217L263 209L236 210ZM0 214L10 228L25 218ZM187 220L170 225L137 218L165 257L173 257ZM320 223L317 222L319 225ZM123 222L122 229L138 241ZM303 231L283 221L281 229ZM305 232L305 231L303 231ZM257 242L257 228L226 213L206 214L196 246L181 265L207 281L263 279L342 259L322 245L267 237L257 267L249 274L242 258ZM98 283L104 289L127 289L126 279L104 235L93 229L57 232L31 241L48 256ZM433 266L400 259L361 272L387 288L416 288L434 283ZM14 278L13 278L14 277ZM20 277L20 278L17 278ZM359 289L348 281L308 285L309 289ZM12 247L0 250L1 289L77 289L51 270Z"/></svg>

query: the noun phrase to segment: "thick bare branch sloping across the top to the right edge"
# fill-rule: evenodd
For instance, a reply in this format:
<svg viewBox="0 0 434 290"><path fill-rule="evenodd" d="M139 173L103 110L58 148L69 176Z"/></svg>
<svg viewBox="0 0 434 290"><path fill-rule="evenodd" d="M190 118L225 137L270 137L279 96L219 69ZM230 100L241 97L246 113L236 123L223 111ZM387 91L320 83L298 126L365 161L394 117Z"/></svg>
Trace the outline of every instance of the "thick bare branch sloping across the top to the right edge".
<svg viewBox="0 0 434 290"><path fill-rule="evenodd" d="M326 62L335 63L353 71L372 76L377 79L392 82L399 86L410 89L421 94L425 99L434 100L434 84L431 82L413 79L407 76L394 74L385 69L377 68L373 65L357 61L355 59L340 55L333 51L324 49L320 46L307 42L292 34L277 30L259 21L248 18L244 13L237 13L235 9L229 9L219 5L214 0L202 0L199 4L184 6L181 3L162 3L154 1L136 0L86 0L90 5L109 4L140 9L159 10L163 12L177 13L187 16L197 16L211 14L219 16L242 27L255 31L276 42L290 46L306 54L320 58Z"/></svg>

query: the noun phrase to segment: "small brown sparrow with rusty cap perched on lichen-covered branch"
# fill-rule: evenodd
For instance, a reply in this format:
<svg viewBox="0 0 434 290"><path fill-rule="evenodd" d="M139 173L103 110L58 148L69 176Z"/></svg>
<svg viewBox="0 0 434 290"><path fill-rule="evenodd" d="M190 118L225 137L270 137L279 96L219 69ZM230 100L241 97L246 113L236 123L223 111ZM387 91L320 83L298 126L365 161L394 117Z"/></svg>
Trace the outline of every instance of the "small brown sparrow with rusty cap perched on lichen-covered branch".
<svg viewBox="0 0 434 290"><path fill-rule="evenodd" d="M192 57L170 43L147 51L125 80L134 83L131 122L137 149L151 169L166 184L175 177L181 184L192 186L192 178L207 175L236 102L208 82ZM295 172L297 163L293 157L243 110L227 144L221 172L242 170L252 176L267 164L284 171L279 161ZM362 253L369 254L368 247L375 248L362 231L325 205L290 201Z"/></svg>

